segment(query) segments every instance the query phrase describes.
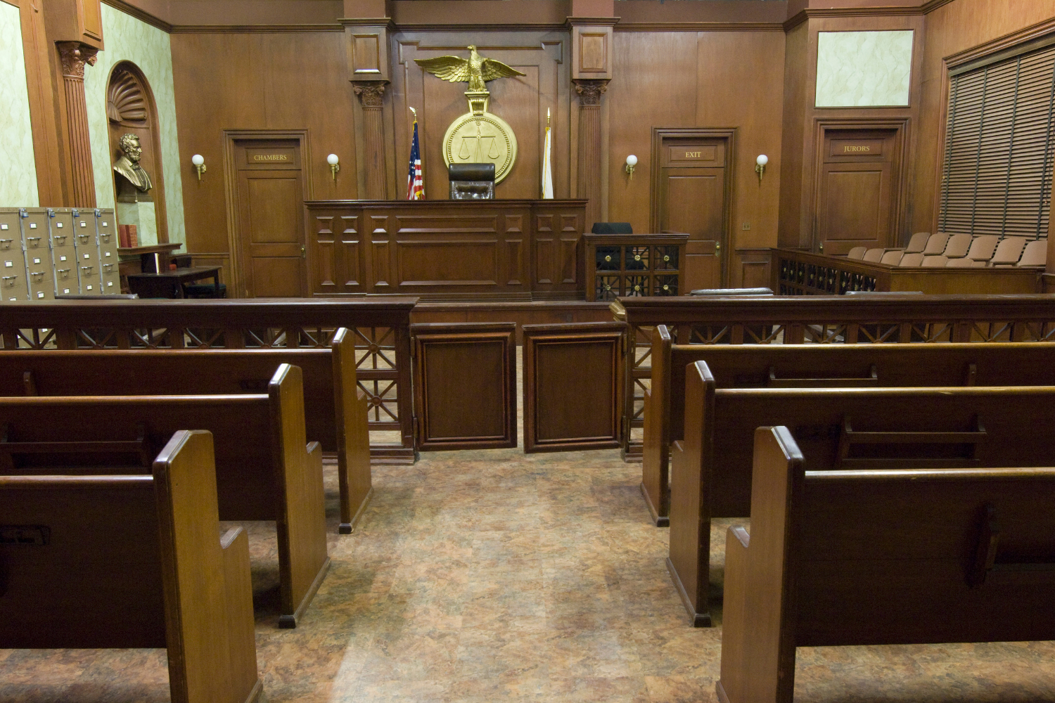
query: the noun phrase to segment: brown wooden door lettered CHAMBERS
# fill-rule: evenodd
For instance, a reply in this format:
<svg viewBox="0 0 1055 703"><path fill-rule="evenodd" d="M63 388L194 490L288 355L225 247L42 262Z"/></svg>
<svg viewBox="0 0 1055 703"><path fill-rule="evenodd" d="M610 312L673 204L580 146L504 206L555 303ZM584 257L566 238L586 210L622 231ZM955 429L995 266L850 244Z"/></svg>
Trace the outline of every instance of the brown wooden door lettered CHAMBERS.
<svg viewBox="0 0 1055 703"><path fill-rule="evenodd" d="M235 163L237 241L246 295L307 295L300 142L238 140Z"/></svg>

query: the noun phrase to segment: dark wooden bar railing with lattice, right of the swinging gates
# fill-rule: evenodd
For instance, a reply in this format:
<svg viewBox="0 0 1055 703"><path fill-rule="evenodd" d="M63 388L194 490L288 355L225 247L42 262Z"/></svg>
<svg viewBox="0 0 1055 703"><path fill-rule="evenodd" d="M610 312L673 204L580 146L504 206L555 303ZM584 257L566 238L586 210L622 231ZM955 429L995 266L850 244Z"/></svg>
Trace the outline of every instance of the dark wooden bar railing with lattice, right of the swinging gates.
<svg viewBox="0 0 1055 703"><path fill-rule="evenodd" d="M641 454L638 433L657 325L679 345L1055 341L1051 294L620 297L611 309L628 323L630 335L625 458Z"/></svg>

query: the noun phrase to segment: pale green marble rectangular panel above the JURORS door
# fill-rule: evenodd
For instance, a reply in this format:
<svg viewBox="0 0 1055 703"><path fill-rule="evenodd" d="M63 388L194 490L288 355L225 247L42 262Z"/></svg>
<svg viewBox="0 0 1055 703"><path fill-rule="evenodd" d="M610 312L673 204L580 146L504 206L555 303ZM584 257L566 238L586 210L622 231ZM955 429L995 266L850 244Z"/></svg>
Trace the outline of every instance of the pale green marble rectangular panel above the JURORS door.
<svg viewBox="0 0 1055 703"><path fill-rule="evenodd" d="M912 66L912 30L821 32L817 43L816 105L907 105Z"/></svg>

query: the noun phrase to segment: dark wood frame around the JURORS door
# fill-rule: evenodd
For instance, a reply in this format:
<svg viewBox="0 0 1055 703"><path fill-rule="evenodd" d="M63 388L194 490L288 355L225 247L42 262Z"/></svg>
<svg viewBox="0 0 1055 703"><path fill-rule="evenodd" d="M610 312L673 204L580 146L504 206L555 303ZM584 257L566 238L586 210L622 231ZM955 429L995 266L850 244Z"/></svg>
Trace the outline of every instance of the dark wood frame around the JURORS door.
<svg viewBox="0 0 1055 703"><path fill-rule="evenodd" d="M908 110L902 106L900 110ZM909 126L910 117L814 117L813 118L813 193L809 200L809 221L812 229L809 232L809 249L817 250L817 217L821 204L821 172L824 163L824 135L828 130L894 130L894 177L898 182L898 191L894 196L893 237L888 247L897 247L902 236L902 227L908 226L908 148L912 143ZM799 241L802 241L800 234ZM775 270L775 269L774 269Z"/></svg>

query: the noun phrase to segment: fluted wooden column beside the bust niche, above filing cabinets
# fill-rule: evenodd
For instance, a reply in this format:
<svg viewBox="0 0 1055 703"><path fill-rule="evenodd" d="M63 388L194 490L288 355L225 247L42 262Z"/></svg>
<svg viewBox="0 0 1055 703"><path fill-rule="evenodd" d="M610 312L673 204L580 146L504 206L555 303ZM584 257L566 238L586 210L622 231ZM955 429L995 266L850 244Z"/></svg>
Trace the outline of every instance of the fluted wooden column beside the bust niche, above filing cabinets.
<svg viewBox="0 0 1055 703"><path fill-rule="evenodd" d="M62 61L65 92L66 130L70 136L70 175L74 208L95 207L95 173L92 143L88 133L88 102L84 99L84 65L95 65L97 48L79 41L56 44Z"/></svg>

